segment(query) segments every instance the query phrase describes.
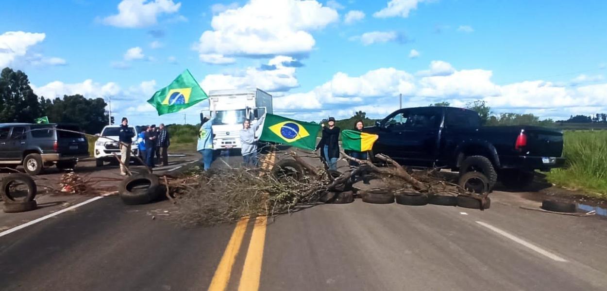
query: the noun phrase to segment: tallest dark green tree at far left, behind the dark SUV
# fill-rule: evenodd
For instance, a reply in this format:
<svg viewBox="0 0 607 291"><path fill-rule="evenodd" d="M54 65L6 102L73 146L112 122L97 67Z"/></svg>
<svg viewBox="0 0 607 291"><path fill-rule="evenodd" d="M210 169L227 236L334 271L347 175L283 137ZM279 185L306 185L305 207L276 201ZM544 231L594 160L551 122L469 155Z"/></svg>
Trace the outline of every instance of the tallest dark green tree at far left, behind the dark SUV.
<svg viewBox="0 0 607 291"><path fill-rule="evenodd" d="M42 116L38 96L24 72L4 68L0 73L0 122L33 122Z"/></svg>

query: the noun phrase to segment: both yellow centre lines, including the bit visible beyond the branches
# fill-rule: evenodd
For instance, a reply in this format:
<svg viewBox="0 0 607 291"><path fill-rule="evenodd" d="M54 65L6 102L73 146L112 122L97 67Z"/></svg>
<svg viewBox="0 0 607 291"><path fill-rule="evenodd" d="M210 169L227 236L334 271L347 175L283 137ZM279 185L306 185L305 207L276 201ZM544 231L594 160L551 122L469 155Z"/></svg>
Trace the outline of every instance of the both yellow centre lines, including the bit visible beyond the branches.
<svg viewBox="0 0 607 291"><path fill-rule="evenodd" d="M266 156L266 160L263 162L262 167L264 169L271 167L271 165L274 164L275 159L276 153L272 150L272 152ZM242 269L242 274L240 275L238 285L239 291L259 290L267 222L266 216L259 216L255 219L253 233L251 233L251 241L249 242L249 247L246 252L245 264ZM223 291L228 287L232 269L236 262L240 247L242 246L248 223L248 217L242 218L237 222L234 232L232 232L232 236L229 239L228 246L226 246L226 250L223 252L217 270L215 270L215 275L211 280L209 291Z"/></svg>

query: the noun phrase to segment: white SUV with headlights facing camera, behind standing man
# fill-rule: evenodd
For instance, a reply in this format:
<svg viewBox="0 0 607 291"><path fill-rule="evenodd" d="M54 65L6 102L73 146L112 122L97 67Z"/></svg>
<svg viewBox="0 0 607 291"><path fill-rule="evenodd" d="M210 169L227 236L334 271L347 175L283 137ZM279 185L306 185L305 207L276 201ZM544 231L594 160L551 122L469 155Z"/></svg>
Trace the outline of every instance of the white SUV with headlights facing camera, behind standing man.
<svg viewBox="0 0 607 291"><path fill-rule="evenodd" d="M135 133L131 146L131 156L137 156L139 155L139 149L137 147L138 132L134 126L129 127L131 127L131 130ZM114 153L120 157L120 147L118 146L118 142L115 142L118 140L119 132L120 125L106 125L101 131L99 138L95 142L95 161L97 162L97 167L103 166L103 162L115 161L116 158L114 158ZM115 141L107 138L114 139Z"/></svg>

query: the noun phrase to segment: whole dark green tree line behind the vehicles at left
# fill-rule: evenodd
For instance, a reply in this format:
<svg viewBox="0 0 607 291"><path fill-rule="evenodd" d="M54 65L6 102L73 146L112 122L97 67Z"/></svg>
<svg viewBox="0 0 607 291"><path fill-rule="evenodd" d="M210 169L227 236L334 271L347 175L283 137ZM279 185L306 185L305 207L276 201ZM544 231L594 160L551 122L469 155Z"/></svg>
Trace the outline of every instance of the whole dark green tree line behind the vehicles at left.
<svg viewBox="0 0 607 291"><path fill-rule="evenodd" d="M21 70L4 68L0 73L0 123L33 123L48 116L52 123L77 124L86 133L94 134L109 122L103 98L64 95L63 98L37 96Z"/></svg>

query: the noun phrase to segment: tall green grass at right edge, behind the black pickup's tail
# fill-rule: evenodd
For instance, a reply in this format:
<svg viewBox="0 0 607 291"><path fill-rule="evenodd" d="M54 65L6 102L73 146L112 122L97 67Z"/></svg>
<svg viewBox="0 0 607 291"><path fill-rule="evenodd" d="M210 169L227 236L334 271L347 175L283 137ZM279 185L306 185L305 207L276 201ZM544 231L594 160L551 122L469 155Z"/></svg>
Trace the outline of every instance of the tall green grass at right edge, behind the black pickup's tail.
<svg viewBox="0 0 607 291"><path fill-rule="evenodd" d="M548 181L607 198L607 131L567 131L564 139L566 167L549 172Z"/></svg>

